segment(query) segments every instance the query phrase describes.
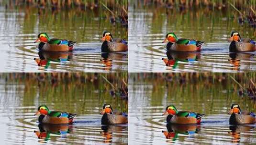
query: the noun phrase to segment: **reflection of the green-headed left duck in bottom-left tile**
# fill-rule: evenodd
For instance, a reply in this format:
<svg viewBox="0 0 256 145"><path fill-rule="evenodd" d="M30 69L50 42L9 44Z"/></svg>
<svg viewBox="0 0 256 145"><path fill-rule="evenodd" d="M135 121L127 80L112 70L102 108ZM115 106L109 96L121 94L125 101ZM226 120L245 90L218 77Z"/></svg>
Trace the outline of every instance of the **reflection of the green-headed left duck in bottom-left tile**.
<svg viewBox="0 0 256 145"><path fill-rule="evenodd" d="M40 139L49 140L51 134L65 135L72 130L69 124L38 124L39 131L34 131L35 135Z"/></svg>

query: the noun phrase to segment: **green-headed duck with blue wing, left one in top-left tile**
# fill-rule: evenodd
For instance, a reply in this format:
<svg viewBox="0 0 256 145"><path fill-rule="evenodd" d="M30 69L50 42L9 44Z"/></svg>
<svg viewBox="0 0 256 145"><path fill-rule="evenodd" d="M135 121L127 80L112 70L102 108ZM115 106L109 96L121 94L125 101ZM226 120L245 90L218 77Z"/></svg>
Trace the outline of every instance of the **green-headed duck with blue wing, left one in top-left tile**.
<svg viewBox="0 0 256 145"><path fill-rule="evenodd" d="M48 52L64 52L72 51L73 46L76 44L74 41L69 41L65 39L52 38L47 35L47 33L40 33L35 42L40 42L38 45L39 51Z"/></svg>

